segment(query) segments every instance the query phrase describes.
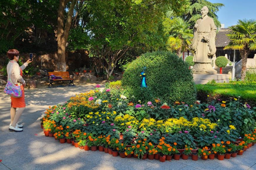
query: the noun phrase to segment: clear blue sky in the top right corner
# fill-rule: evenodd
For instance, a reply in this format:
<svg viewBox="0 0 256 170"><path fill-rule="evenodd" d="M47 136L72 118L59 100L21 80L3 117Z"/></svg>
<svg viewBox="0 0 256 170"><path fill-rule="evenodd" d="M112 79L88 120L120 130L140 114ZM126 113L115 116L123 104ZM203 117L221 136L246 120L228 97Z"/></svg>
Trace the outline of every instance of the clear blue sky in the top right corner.
<svg viewBox="0 0 256 170"><path fill-rule="evenodd" d="M217 12L218 20L225 28L237 24L238 20L256 20L256 0L208 0L211 3L223 3Z"/></svg>

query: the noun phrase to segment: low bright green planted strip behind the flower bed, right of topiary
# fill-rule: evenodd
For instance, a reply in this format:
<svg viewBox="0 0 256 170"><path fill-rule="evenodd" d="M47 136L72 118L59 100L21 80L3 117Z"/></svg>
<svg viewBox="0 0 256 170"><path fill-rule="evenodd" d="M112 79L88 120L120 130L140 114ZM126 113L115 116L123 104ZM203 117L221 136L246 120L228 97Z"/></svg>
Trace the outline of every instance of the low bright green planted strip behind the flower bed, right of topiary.
<svg viewBox="0 0 256 170"><path fill-rule="evenodd" d="M256 105L256 82L230 82L230 83L207 83L196 85L197 97L201 102L207 99L229 99L238 98L244 102ZM210 97L208 98L207 95Z"/></svg>

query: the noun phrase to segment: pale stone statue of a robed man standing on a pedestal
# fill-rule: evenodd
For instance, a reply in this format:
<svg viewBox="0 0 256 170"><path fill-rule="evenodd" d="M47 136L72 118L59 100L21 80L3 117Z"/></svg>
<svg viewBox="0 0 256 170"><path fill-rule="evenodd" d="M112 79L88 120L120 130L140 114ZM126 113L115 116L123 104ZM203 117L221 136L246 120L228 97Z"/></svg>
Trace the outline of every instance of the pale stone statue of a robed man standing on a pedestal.
<svg viewBox="0 0 256 170"><path fill-rule="evenodd" d="M208 12L209 9L204 6L201 9L202 17L196 21L193 28L194 38L189 46L195 51L193 74L217 74L211 65L211 58L216 52L215 36L217 29L213 19L208 17Z"/></svg>

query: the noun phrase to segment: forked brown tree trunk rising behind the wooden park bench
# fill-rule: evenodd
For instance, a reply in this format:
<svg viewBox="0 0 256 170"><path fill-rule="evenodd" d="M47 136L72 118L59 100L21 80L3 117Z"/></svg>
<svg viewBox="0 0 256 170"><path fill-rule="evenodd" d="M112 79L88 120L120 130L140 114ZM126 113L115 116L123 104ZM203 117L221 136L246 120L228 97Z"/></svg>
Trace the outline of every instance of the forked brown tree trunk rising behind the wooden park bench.
<svg viewBox="0 0 256 170"><path fill-rule="evenodd" d="M72 23L72 15L73 15L73 10L76 5L76 0L71 0L70 8L67 13L67 20L66 20L66 25L64 28L64 12L65 12L65 7L67 3L70 2L70 0L60 0L59 8L58 8L58 62L57 62L57 71L66 71L66 58L65 58L65 53L66 53L66 43L67 43L67 38L69 35L70 31L70 26Z"/></svg>

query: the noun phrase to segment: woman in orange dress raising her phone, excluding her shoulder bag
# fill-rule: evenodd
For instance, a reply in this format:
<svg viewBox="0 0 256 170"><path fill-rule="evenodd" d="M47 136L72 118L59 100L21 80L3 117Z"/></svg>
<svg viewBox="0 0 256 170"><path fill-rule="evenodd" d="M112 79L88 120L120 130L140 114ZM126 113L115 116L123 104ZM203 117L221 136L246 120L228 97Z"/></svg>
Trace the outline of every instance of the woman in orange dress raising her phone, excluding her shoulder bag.
<svg viewBox="0 0 256 170"><path fill-rule="evenodd" d="M11 124L9 126L10 131L21 132L23 131L23 125L18 125L17 122L20 119L20 115L26 107L24 87L26 86L25 80L22 78L22 71L28 66L32 60L28 59L23 65L19 66L17 63L19 61L20 52L12 49L7 52L7 57L10 59L7 65L8 78L10 76L13 84L17 85L20 82L20 88L22 91L22 96L20 98L15 98L11 96ZM17 109L18 108L18 109ZM16 111L17 109L17 111Z"/></svg>

